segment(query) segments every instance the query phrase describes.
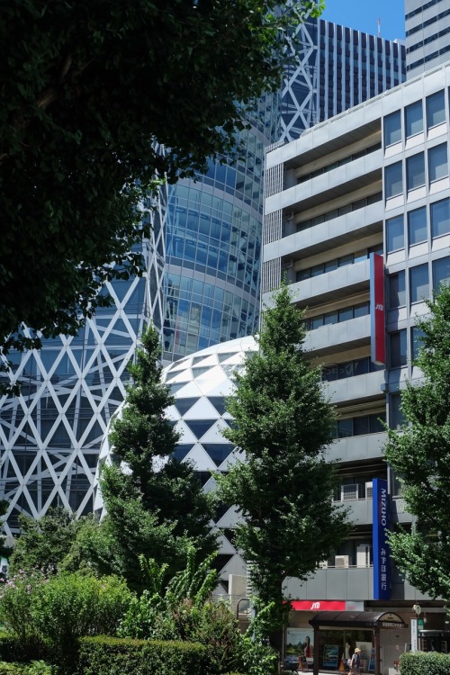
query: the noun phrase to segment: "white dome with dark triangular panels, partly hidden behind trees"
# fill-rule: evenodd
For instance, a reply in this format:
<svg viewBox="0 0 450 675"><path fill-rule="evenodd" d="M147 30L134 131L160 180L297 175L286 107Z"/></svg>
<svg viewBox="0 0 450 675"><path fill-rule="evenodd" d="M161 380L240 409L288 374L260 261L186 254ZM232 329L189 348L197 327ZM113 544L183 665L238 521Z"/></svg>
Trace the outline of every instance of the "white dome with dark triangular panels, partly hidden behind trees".
<svg viewBox="0 0 450 675"><path fill-rule="evenodd" d="M215 482L212 471L223 471L234 461L234 447L221 435L229 426L231 416L225 410L225 398L234 392L232 381L235 371L242 367L247 352L257 350L254 338L238 338L207 347L180 361L167 365L163 380L175 397L174 405L166 410L167 418L175 423L180 440L175 455L180 460L191 460L200 473L203 489L213 490ZM120 416L123 405L114 417ZM113 447L108 434L103 438L99 464L112 461ZM94 509L103 510L103 500L98 489L95 491ZM220 528L220 578L227 585L229 574L245 574L245 565L229 539L229 532L238 521L234 508L220 513L211 527Z"/></svg>

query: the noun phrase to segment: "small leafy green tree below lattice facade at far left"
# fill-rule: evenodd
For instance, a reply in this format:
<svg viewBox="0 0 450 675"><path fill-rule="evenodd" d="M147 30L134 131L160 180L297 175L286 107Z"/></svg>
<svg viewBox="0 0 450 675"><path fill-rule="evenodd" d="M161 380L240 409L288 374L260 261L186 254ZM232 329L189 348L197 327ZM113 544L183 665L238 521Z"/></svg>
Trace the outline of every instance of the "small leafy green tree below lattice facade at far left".
<svg viewBox="0 0 450 675"><path fill-rule="evenodd" d="M19 518L21 536L10 558L9 572L40 568L57 572L68 554L83 521L77 521L67 509L49 509L39 520L22 515Z"/></svg>

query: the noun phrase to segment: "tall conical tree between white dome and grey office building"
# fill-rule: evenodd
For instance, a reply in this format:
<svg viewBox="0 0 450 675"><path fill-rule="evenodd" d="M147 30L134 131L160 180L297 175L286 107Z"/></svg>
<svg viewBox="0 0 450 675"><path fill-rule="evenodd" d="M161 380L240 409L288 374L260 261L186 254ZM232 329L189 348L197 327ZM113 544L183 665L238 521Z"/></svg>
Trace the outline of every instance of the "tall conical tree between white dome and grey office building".
<svg viewBox="0 0 450 675"><path fill-rule="evenodd" d="M246 459L217 476L222 499L243 518L236 541L252 588L263 605L275 602L278 625L289 608L285 577L306 580L347 533L345 512L332 504L334 466L324 456L334 413L304 339L303 313L283 287L228 401L236 426L224 436Z"/></svg>

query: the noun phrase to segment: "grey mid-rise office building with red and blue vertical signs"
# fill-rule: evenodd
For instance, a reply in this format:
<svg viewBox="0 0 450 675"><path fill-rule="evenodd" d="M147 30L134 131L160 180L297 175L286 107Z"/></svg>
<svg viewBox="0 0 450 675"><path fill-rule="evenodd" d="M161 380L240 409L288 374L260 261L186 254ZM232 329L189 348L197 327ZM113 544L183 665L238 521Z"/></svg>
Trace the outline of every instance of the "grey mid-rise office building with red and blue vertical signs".
<svg viewBox="0 0 450 675"><path fill-rule="evenodd" d="M412 524L383 461L383 421L401 424L401 389L420 377L417 317L450 281L449 85L450 65L437 67L267 155L263 300L285 276L306 309L307 347L338 412L335 500L353 522L311 580L286 581L291 627L311 631L320 609L395 612L405 626L382 635L386 675L414 642L413 604L430 629L446 620L380 557L377 519L381 504L392 527Z"/></svg>

